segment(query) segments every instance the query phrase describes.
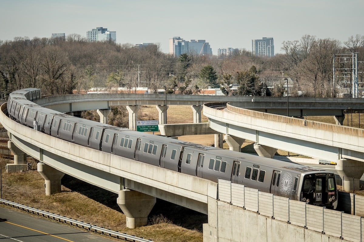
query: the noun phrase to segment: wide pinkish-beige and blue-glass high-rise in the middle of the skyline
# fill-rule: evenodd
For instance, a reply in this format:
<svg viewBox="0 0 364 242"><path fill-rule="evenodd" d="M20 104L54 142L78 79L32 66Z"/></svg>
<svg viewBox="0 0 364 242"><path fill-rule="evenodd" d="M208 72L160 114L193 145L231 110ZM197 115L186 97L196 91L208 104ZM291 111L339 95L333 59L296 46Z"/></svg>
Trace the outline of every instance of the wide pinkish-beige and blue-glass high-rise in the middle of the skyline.
<svg viewBox="0 0 364 242"><path fill-rule="evenodd" d="M205 40L186 41L181 37L169 39L169 53L174 57L191 52L198 55L212 55L210 44Z"/></svg>

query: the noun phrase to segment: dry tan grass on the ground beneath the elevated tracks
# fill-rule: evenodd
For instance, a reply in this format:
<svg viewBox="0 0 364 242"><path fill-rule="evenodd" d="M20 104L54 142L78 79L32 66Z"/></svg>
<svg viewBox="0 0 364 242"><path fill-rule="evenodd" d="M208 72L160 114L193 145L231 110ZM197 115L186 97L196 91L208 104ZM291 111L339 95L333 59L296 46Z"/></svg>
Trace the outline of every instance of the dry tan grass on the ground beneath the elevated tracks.
<svg viewBox="0 0 364 242"><path fill-rule="evenodd" d="M170 106L168 123L192 123L193 112L190 106ZM359 126L359 116L347 115L349 126ZM158 119L155 106L142 106L138 111L140 120ZM309 120L335 123L332 116L309 116ZM364 120L364 117L361 117ZM202 122L207 122L202 115ZM347 124L345 117L344 125ZM364 125L363 125L364 126ZM362 125L361 125L362 127ZM214 143L214 135L182 136L179 139L204 145ZM224 144L225 148L228 148ZM255 153L253 142L246 140L242 151ZM279 155L288 152L278 150ZM297 154L292 154L298 156ZM44 180L37 171L22 173L5 173L7 160L0 160L2 172L3 198L19 202L35 208L61 214L80 221L96 224L123 233L135 234L139 237L161 242L202 241L202 224L207 223L207 216L181 206L157 199L150 216L149 225L136 229L126 228L126 219L116 204L117 194L87 184L68 175L62 179L62 192L51 196L44 193ZM4 206L4 205L1 205Z"/></svg>

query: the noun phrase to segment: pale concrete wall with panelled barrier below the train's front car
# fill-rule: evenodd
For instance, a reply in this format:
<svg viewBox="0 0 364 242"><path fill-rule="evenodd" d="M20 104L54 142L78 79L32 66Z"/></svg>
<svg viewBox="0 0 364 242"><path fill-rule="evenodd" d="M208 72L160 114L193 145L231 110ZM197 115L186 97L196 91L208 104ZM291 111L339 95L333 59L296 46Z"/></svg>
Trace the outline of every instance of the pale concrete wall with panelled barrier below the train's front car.
<svg viewBox="0 0 364 242"><path fill-rule="evenodd" d="M268 241L361 241L364 238L362 217L274 196L230 181L219 180L218 201L209 200L208 211L209 223L203 227L204 242L267 241L266 238ZM241 227L234 230L236 226Z"/></svg>

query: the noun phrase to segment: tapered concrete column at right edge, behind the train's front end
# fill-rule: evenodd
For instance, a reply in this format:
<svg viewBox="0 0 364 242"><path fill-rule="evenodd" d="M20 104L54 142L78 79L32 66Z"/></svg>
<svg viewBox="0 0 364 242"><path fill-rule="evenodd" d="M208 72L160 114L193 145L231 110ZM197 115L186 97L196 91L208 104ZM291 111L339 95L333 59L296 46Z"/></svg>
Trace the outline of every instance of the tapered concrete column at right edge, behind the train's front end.
<svg viewBox="0 0 364 242"><path fill-rule="evenodd" d="M343 179L343 190L359 190L360 177L364 173L364 162L357 160L340 159L335 166L337 173Z"/></svg>

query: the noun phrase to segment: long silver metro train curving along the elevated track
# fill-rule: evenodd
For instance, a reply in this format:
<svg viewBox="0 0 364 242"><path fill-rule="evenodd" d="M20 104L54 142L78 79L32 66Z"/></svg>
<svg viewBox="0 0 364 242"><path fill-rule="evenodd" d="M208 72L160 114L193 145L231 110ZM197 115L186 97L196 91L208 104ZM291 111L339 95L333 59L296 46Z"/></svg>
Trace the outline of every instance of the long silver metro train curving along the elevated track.
<svg viewBox="0 0 364 242"><path fill-rule="evenodd" d="M327 208L337 201L333 172L77 118L32 102L39 98L36 88L12 92L9 117L29 127L36 122L40 132L75 144L214 182L229 180Z"/></svg>

